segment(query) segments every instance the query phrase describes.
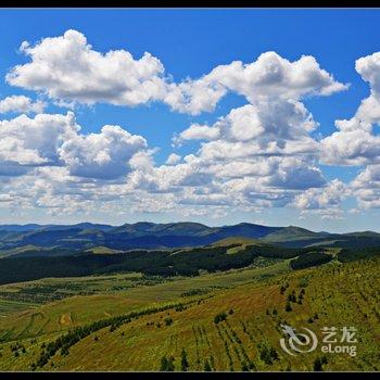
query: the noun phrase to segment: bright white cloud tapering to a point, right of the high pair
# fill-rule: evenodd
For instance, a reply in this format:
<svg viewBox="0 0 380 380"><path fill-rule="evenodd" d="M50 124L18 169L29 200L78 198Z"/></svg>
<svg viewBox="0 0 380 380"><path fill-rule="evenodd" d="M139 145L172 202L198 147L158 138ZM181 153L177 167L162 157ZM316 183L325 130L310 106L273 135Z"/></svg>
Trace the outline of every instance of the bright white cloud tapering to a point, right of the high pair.
<svg viewBox="0 0 380 380"><path fill-rule="evenodd" d="M347 85L335 81L320 68L314 56L303 55L290 62L269 51L252 63L235 61L215 67L200 79L172 85L165 102L176 111L199 114L213 111L228 91L244 96L254 104L263 98L297 100L305 96L330 96L346 88Z"/></svg>

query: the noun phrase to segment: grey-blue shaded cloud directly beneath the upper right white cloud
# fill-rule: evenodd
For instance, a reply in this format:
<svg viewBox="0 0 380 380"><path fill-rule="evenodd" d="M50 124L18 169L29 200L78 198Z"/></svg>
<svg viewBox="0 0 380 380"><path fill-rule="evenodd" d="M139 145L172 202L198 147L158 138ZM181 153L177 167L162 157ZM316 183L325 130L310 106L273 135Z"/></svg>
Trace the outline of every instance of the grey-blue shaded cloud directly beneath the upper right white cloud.
<svg viewBox="0 0 380 380"><path fill-rule="evenodd" d="M175 137L175 142L193 139L219 141L204 145L203 152L208 151L208 155L229 154L227 151L243 155L306 153L315 152L317 148L316 141L309 137L316 127L313 115L301 102L262 101L231 110L211 127L193 124Z"/></svg>

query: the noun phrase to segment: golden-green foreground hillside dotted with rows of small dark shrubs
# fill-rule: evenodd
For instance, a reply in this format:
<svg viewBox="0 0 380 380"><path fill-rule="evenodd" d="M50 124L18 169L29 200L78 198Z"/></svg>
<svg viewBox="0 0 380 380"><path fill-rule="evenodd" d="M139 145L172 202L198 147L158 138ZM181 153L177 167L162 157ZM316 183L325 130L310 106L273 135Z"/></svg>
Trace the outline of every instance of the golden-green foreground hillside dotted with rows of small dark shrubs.
<svg viewBox="0 0 380 380"><path fill-rule="evenodd" d="M0 368L29 369L39 363L36 370L160 370L170 367L170 362L175 370L183 369L183 363L188 370L313 370L320 352L290 356L281 350L280 325L287 324L296 329L307 327L317 334L325 326L357 328L357 355L326 354L322 368L378 370L379 268L379 257L345 264L333 261L314 268L277 271L269 277L255 277L249 273L254 269L241 269L229 275L235 276L230 282L224 277L227 274L219 275L219 282L214 274L203 277L203 286L201 276L134 289L125 296L132 300L135 292L140 302L147 301L134 308L136 314L130 314L131 308L117 311L119 318L106 316L97 326L85 318L81 326L87 328L80 333L73 329L71 332L78 339L55 352L49 350L56 346L56 339L67 327L62 332L55 329L35 338L20 338L18 344L25 349L17 350L17 357L11 350L16 342L4 342ZM251 279L238 280L246 274ZM214 286L207 293L183 295L183 286L204 289L206 282ZM216 283L225 287L217 288ZM157 291L165 294L164 289L170 296L153 301ZM65 300L67 307L73 300ZM166 306L160 311L160 305ZM217 315L221 317L216 319ZM69 324L73 319L72 313L60 321ZM12 330L12 325L8 328Z"/></svg>

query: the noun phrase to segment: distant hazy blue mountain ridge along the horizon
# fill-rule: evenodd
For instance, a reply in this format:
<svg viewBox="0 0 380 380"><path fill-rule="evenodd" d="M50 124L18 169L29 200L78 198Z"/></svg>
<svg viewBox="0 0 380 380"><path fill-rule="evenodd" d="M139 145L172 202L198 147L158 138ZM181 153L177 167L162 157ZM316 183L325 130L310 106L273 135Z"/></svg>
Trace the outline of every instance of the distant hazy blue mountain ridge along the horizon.
<svg viewBox="0 0 380 380"><path fill-rule="evenodd" d="M24 246L35 246L35 251L39 251L38 254L40 251L49 252L49 249L76 254L94 246L124 251L202 246L233 237L258 239L263 243L275 243L287 248L380 245L380 233L375 231L330 233L311 231L297 226L276 227L250 223L218 227L191 221L165 224L139 221L121 226L91 223L28 224L0 225L0 256L18 254Z"/></svg>

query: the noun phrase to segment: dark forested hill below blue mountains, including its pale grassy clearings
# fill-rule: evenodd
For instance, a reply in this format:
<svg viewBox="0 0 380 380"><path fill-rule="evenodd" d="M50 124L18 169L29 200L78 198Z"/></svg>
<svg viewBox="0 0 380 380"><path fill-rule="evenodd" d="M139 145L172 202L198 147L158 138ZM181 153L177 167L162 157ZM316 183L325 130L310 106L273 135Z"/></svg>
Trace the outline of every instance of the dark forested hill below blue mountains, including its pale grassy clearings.
<svg viewBox="0 0 380 380"><path fill-rule="evenodd" d="M231 240L232 239L232 240ZM226 245L227 242L231 242ZM252 242L252 244L248 244ZM199 276L255 265L257 261L273 263L320 252L335 253L339 249L329 248L284 248L259 240L228 238L214 245L177 250L139 250L118 252L104 246L91 248L76 255L62 255L62 249L53 254L35 252L1 258L0 284L28 281L45 277L80 277L115 273L139 271L150 276ZM93 254L96 253L96 254ZM312 265L313 261L309 262Z"/></svg>

